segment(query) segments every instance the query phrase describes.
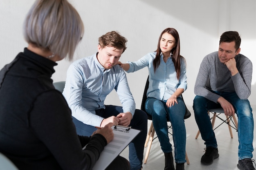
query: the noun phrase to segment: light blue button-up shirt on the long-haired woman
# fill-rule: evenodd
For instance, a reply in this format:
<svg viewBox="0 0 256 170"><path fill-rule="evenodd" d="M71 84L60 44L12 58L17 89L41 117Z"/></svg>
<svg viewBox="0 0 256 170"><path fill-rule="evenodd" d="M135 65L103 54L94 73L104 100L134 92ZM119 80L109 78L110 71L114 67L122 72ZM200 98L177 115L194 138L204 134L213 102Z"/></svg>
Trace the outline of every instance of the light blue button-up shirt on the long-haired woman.
<svg viewBox="0 0 256 170"><path fill-rule="evenodd" d="M172 55L165 63L161 53L159 67L154 72L153 60L155 59L156 52L148 53L137 62L128 62L130 68L127 73L137 71L141 68L148 67L149 73L149 87L147 97L155 97L159 100L167 100L173 95L177 88L187 88L186 83L186 64L185 61L180 59L180 79L177 79Z"/></svg>

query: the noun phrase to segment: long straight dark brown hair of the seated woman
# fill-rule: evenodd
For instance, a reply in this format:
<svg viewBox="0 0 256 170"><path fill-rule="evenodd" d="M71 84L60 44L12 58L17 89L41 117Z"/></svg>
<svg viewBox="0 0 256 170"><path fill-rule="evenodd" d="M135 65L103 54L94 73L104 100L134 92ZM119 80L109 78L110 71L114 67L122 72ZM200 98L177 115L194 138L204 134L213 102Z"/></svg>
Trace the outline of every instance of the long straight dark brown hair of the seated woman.
<svg viewBox="0 0 256 170"><path fill-rule="evenodd" d="M175 66L175 71L177 73L177 79L180 79L180 58L183 58L180 55L180 37L179 37L179 33L177 32L176 29L174 28L167 28L164 31L162 31L162 33L159 36L159 40L158 40L158 45L157 45L157 50L156 50L156 56L155 56L155 60L153 61L153 65L154 65L154 70L156 71L156 69L159 67L160 64L160 54L162 52L162 50L160 49L160 41L162 38L162 35L164 33L169 33L171 35L173 35L173 37L175 38L175 47L173 47L173 49L171 50L171 53L173 54L172 60ZM185 61L185 59L184 59Z"/></svg>

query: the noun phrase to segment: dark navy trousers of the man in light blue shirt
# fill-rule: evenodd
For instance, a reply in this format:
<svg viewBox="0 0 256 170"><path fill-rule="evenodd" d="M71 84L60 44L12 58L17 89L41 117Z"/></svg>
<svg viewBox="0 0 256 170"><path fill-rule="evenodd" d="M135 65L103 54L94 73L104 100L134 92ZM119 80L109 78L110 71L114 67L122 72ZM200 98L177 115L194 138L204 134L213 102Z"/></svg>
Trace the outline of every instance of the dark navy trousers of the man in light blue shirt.
<svg viewBox="0 0 256 170"><path fill-rule="evenodd" d="M106 109L96 110L96 114L104 118L117 116L119 113L123 113L123 108L121 106L106 105ZM94 126L84 124L74 117L73 122L76 126L76 132L78 135L90 136L95 130L97 130ZM129 126L141 130L139 135L137 135L137 137L135 137L129 144L130 169L140 170L148 128L148 117L146 113L142 110L136 109Z"/></svg>

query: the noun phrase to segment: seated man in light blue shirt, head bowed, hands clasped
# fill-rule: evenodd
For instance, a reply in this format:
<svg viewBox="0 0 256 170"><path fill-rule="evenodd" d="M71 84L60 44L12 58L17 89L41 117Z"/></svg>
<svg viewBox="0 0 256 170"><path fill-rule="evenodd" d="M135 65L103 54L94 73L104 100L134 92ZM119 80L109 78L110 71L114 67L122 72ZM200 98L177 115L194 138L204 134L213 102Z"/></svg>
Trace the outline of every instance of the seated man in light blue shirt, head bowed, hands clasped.
<svg viewBox="0 0 256 170"><path fill-rule="evenodd" d="M132 126L141 130L129 144L131 170L142 168L144 143L147 133L147 115L135 109L135 101L128 86L126 74L116 65L126 50L126 38L111 31L99 38L98 52L75 61L67 70L63 95L72 110L78 135L90 136L94 126ZM121 106L104 105L106 96L117 91Z"/></svg>

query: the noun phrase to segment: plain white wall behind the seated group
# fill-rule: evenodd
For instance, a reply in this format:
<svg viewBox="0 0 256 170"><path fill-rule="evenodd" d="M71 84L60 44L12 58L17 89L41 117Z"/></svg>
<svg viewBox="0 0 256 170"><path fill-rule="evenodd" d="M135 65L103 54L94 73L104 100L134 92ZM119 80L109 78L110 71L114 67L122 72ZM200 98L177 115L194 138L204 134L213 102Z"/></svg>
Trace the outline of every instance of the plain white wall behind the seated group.
<svg viewBox="0 0 256 170"><path fill-rule="evenodd" d="M11 62L27 43L22 24L34 0L0 1L0 68ZM85 35L74 60L97 52L99 36L119 31L128 39L128 48L121 62L136 61L155 51L159 34L167 27L177 29L181 40L181 55L186 58L188 88L184 92L186 105L193 105L193 88L202 58L218 50L220 35L238 31L242 38L241 53L252 60L254 73L252 95L256 105L256 1L255 0L70 0L85 25ZM52 79L63 81L70 62L62 60L55 67ZM128 73L128 82L140 108L147 68ZM107 97L106 104L119 105L116 93Z"/></svg>

